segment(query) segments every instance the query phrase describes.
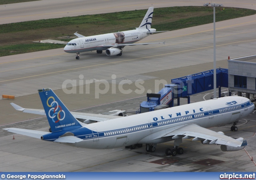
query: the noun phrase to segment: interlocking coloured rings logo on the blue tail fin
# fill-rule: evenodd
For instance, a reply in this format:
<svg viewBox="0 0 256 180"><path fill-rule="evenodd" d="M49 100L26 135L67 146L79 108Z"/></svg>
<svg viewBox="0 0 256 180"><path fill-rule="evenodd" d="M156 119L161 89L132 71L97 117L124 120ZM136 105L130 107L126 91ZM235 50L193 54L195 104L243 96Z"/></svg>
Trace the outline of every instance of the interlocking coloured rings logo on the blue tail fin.
<svg viewBox="0 0 256 180"><path fill-rule="evenodd" d="M49 100L52 99L52 103L49 105ZM47 106L48 107L51 107L51 109L49 110L48 112L48 115L50 118L52 118L52 121L54 123L58 123L59 121L62 121L64 118L65 118L65 111L62 111L62 108L59 106L58 102L55 101L54 97L50 96L48 99L47 99L47 102L46 102ZM60 110L59 110L60 109ZM59 111L58 111L59 110ZM53 112L53 114L51 113ZM52 114L52 115L51 115ZM62 116L61 116L62 114ZM57 117L58 121L55 121L54 118ZM61 118L62 117L62 118Z"/></svg>

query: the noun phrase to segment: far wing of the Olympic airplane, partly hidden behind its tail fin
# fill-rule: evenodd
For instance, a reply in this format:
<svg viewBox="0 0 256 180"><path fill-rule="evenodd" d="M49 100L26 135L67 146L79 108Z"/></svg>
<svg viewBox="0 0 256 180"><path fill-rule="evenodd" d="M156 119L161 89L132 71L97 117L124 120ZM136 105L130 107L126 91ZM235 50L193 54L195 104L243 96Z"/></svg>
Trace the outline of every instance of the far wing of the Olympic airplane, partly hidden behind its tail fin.
<svg viewBox="0 0 256 180"><path fill-rule="evenodd" d="M42 109L28 109L20 107L14 103L10 103L14 109L18 111L22 111L23 113L31 113L31 114L37 114L37 115L44 115L46 116L44 110ZM120 116L112 116L112 115L99 115L99 114L92 114L92 113L78 113L78 112L70 112L75 118L77 119L84 119L84 123L92 123L95 121L107 121L110 119L116 119L120 118Z"/></svg>

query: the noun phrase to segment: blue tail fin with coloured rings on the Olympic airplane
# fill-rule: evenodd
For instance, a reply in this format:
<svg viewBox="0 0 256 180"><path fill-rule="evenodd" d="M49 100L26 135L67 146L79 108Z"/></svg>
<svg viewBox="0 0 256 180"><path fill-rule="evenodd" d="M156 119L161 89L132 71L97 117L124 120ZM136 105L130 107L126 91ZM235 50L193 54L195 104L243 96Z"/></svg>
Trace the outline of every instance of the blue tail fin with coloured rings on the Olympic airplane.
<svg viewBox="0 0 256 180"><path fill-rule="evenodd" d="M50 88L38 89L52 132L69 131L82 127Z"/></svg>

